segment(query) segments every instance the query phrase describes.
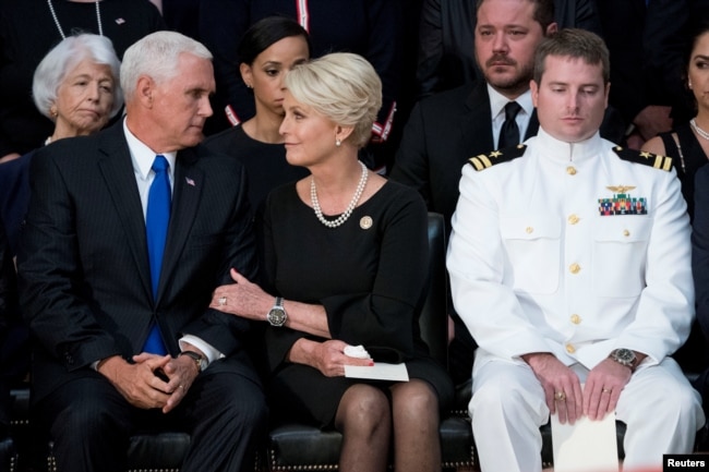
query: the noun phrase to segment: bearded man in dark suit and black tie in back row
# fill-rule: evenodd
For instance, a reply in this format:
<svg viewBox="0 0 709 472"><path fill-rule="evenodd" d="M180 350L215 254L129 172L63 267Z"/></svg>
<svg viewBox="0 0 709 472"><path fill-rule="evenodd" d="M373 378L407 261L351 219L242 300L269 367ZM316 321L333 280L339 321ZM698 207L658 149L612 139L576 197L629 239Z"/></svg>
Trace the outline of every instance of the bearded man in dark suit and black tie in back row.
<svg viewBox="0 0 709 472"><path fill-rule="evenodd" d="M529 92L534 50L555 31L553 0L478 2L474 50L485 80L414 106L390 178L416 187L429 210L443 214L447 231L462 166L470 157L500 147L505 105L516 101L521 107L514 119L515 145L537 134L539 122ZM460 383L470 378L474 342L459 318L454 320L449 372Z"/></svg>

